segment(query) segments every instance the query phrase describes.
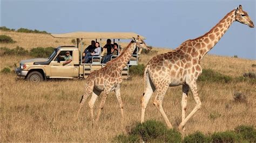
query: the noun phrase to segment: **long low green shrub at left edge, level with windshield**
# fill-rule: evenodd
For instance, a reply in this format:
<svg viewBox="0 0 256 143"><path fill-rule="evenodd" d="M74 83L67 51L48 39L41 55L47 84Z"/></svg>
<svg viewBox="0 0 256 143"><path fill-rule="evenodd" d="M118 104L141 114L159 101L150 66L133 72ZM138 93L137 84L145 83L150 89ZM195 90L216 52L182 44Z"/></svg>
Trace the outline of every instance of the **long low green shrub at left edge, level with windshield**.
<svg viewBox="0 0 256 143"><path fill-rule="evenodd" d="M19 46L14 49L1 47L1 51L4 51L4 55L27 55L29 53L28 50L25 50L23 47Z"/></svg>

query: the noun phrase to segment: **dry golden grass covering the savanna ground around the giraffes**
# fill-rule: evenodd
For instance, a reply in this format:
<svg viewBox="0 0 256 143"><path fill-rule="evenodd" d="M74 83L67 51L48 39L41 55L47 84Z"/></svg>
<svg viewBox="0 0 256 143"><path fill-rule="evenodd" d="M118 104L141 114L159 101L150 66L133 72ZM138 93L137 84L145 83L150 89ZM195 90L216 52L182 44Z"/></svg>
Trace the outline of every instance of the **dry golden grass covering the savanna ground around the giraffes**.
<svg viewBox="0 0 256 143"><path fill-rule="evenodd" d="M49 34L4 32L16 41L14 44L0 44L0 47L26 49L32 47L56 47L72 45L71 39L54 39ZM90 41L85 41L88 45ZM124 46L123 46L124 47ZM224 47L225 48L225 47ZM140 63L152 56L171 51L171 49L153 48L148 55L140 57ZM156 52L157 51L157 52ZM19 65L19 61L29 56L1 55L1 67ZM223 75L239 77L244 73L255 73L255 60L232 58L227 56L206 55L201 66ZM0 74L1 78L1 141L86 141L109 142L114 136L126 133L134 123L140 121L140 98L144 83L141 76L132 76L124 80L121 95L124 103L125 118L122 121L114 93L107 97L102 116L94 126L91 124L90 110L86 104L74 121L81 96L84 94L84 80L59 80L31 83L17 80L17 76ZM186 124L186 134L201 131L205 134L233 130L238 125L256 125L256 86L250 82L198 82L198 92L202 108ZM234 94L240 92L245 101L235 102ZM90 97L89 97L90 98ZM98 111L100 98L95 104ZM159 111L153 106L151 97L145 120L156 119L164 122ZM87 102L89 99L87 99ZM194 108L194 100L189 93L186 115ZM163 108L174 128L181 121L181 87L169 88Z"/></svg>

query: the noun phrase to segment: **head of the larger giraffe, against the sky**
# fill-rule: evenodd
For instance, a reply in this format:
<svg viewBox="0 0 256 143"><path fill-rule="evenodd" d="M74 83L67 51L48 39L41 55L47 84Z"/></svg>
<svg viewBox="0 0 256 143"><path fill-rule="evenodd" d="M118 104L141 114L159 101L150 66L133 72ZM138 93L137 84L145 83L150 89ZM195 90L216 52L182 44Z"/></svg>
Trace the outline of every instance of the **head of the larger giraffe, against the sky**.
<svg viewBox="0 0 256 143"><path fill-rule="evenodd" d="M242 5L239 5L237 9L235 9L235 20L239 23L246 24L249 27L253 28L253 22L247 12L242 10Z"/></svg>

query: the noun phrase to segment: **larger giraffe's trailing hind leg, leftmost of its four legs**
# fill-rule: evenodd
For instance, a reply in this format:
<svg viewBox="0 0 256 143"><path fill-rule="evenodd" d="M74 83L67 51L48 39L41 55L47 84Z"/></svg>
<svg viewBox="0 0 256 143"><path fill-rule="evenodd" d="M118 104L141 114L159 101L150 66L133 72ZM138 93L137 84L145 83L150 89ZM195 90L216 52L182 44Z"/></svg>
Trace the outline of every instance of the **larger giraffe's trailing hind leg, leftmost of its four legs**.
<svg viewBox="0 0 256 143"><path fill-rule="evenodd" d="M150 77L149 74L146 73L145 75L145 91L143 93L142 96L142 118L140 120L141 123L144 122L144 117L145 117L145 110L147 107L147 103L149 103L150 97L152 96L153 92L154 92L155 88L153 83L150 81Z"/></svg>

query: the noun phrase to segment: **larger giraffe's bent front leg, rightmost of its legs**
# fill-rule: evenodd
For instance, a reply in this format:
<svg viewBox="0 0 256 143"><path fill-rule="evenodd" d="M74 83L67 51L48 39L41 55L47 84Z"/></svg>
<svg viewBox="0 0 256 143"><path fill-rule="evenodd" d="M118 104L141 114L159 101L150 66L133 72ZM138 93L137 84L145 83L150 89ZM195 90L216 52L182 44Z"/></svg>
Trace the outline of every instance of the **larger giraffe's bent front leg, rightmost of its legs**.
<svg viewBox="0 0 256 143"><path fill-rule="evenodd" d="M193 80L193 81L191 81L187 84L190 87L190 90L193 94L194 100L196 101L196 106L190 112L190 114L183 121L181 121L181 123L179 124L178 128L179 128L180 131L183 129L183 127L187 123L187 120L190 119L194 115L194 113L196 113L197 110L199 110L201 108L201 101L200 101L200 98L199 98L198 92L197 92L197 82L196 82L196 80Z"/></svg>

